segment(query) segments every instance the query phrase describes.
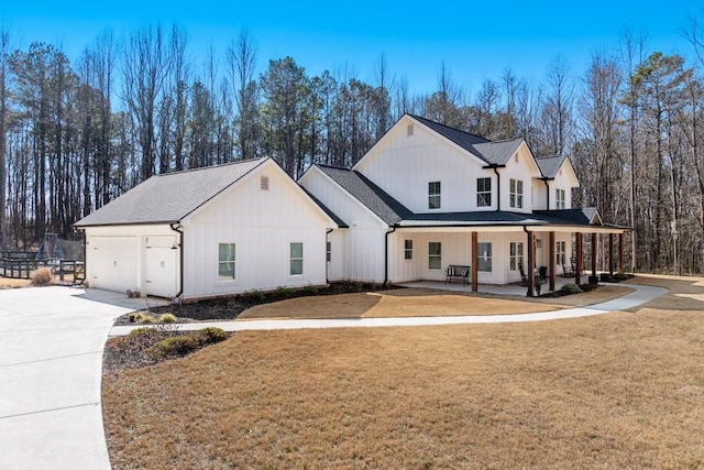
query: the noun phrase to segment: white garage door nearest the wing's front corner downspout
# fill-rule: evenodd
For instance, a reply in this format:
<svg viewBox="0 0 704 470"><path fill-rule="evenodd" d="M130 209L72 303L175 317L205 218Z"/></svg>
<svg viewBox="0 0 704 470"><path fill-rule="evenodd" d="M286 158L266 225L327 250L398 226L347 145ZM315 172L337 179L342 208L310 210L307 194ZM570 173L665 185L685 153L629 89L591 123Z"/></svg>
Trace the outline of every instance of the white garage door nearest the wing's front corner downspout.
<svg viewBox="0 0 704 470"><path fill-rule="evenodd" d="M148 237L145 245L146 295L173 297L176 288L176 237Z"/></svg>

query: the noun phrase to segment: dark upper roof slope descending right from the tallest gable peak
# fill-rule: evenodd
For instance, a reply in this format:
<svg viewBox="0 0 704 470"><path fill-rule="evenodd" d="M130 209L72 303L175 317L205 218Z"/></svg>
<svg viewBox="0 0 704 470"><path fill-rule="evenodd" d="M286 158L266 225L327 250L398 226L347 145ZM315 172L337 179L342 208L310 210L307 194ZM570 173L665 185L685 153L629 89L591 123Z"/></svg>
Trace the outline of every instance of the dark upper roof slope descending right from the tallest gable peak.
<svg viewBox="0 0 704 470"><path fill-rule="evenodd" d="M409 114L415 120L432 129L440 135L451 140L468 152L476 155L484 162L493 165L504 165L516 152L522 139L512 139L499 142L492 142L488 139L450 128L439 122L431 121L420 116Z"/></svg>

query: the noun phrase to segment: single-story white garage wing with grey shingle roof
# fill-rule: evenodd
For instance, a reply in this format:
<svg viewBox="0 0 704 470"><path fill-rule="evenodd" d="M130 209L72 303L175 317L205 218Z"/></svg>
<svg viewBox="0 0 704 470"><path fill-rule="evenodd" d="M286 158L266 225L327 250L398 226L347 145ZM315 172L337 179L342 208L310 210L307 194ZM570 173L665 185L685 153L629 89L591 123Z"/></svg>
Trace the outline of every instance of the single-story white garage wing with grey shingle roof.
<svg viewBox="0 0 704 470"><path fill-rule="evenodd" d="M324 284L340 226L261 159L153 176L75 227L91 287L189 299Z"/></svg>

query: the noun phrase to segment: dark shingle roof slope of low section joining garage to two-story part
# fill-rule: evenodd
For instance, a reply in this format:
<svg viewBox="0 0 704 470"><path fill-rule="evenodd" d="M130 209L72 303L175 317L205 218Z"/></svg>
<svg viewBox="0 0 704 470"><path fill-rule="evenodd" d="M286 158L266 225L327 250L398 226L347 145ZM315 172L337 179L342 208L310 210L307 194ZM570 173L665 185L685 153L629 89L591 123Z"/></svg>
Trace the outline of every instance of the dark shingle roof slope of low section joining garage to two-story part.
<svg viewBox="0 0 704 470"><path fill-rule="evenodd" d="M361 173L336 166L316 166L389 226L413 215Z"/></svg>

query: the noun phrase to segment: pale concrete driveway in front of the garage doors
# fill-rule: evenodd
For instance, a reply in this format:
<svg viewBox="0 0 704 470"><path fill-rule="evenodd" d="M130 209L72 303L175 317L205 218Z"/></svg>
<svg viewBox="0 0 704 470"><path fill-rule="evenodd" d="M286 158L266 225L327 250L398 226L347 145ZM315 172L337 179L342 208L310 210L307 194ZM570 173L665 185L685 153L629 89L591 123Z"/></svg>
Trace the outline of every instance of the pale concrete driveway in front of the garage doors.
<svg viewBox="0 0 704 470"><path fill-rule="evenodd" d="M144 306L96 289L0 291L0 469L110 468L102 349L113 320Z"/></svg>

